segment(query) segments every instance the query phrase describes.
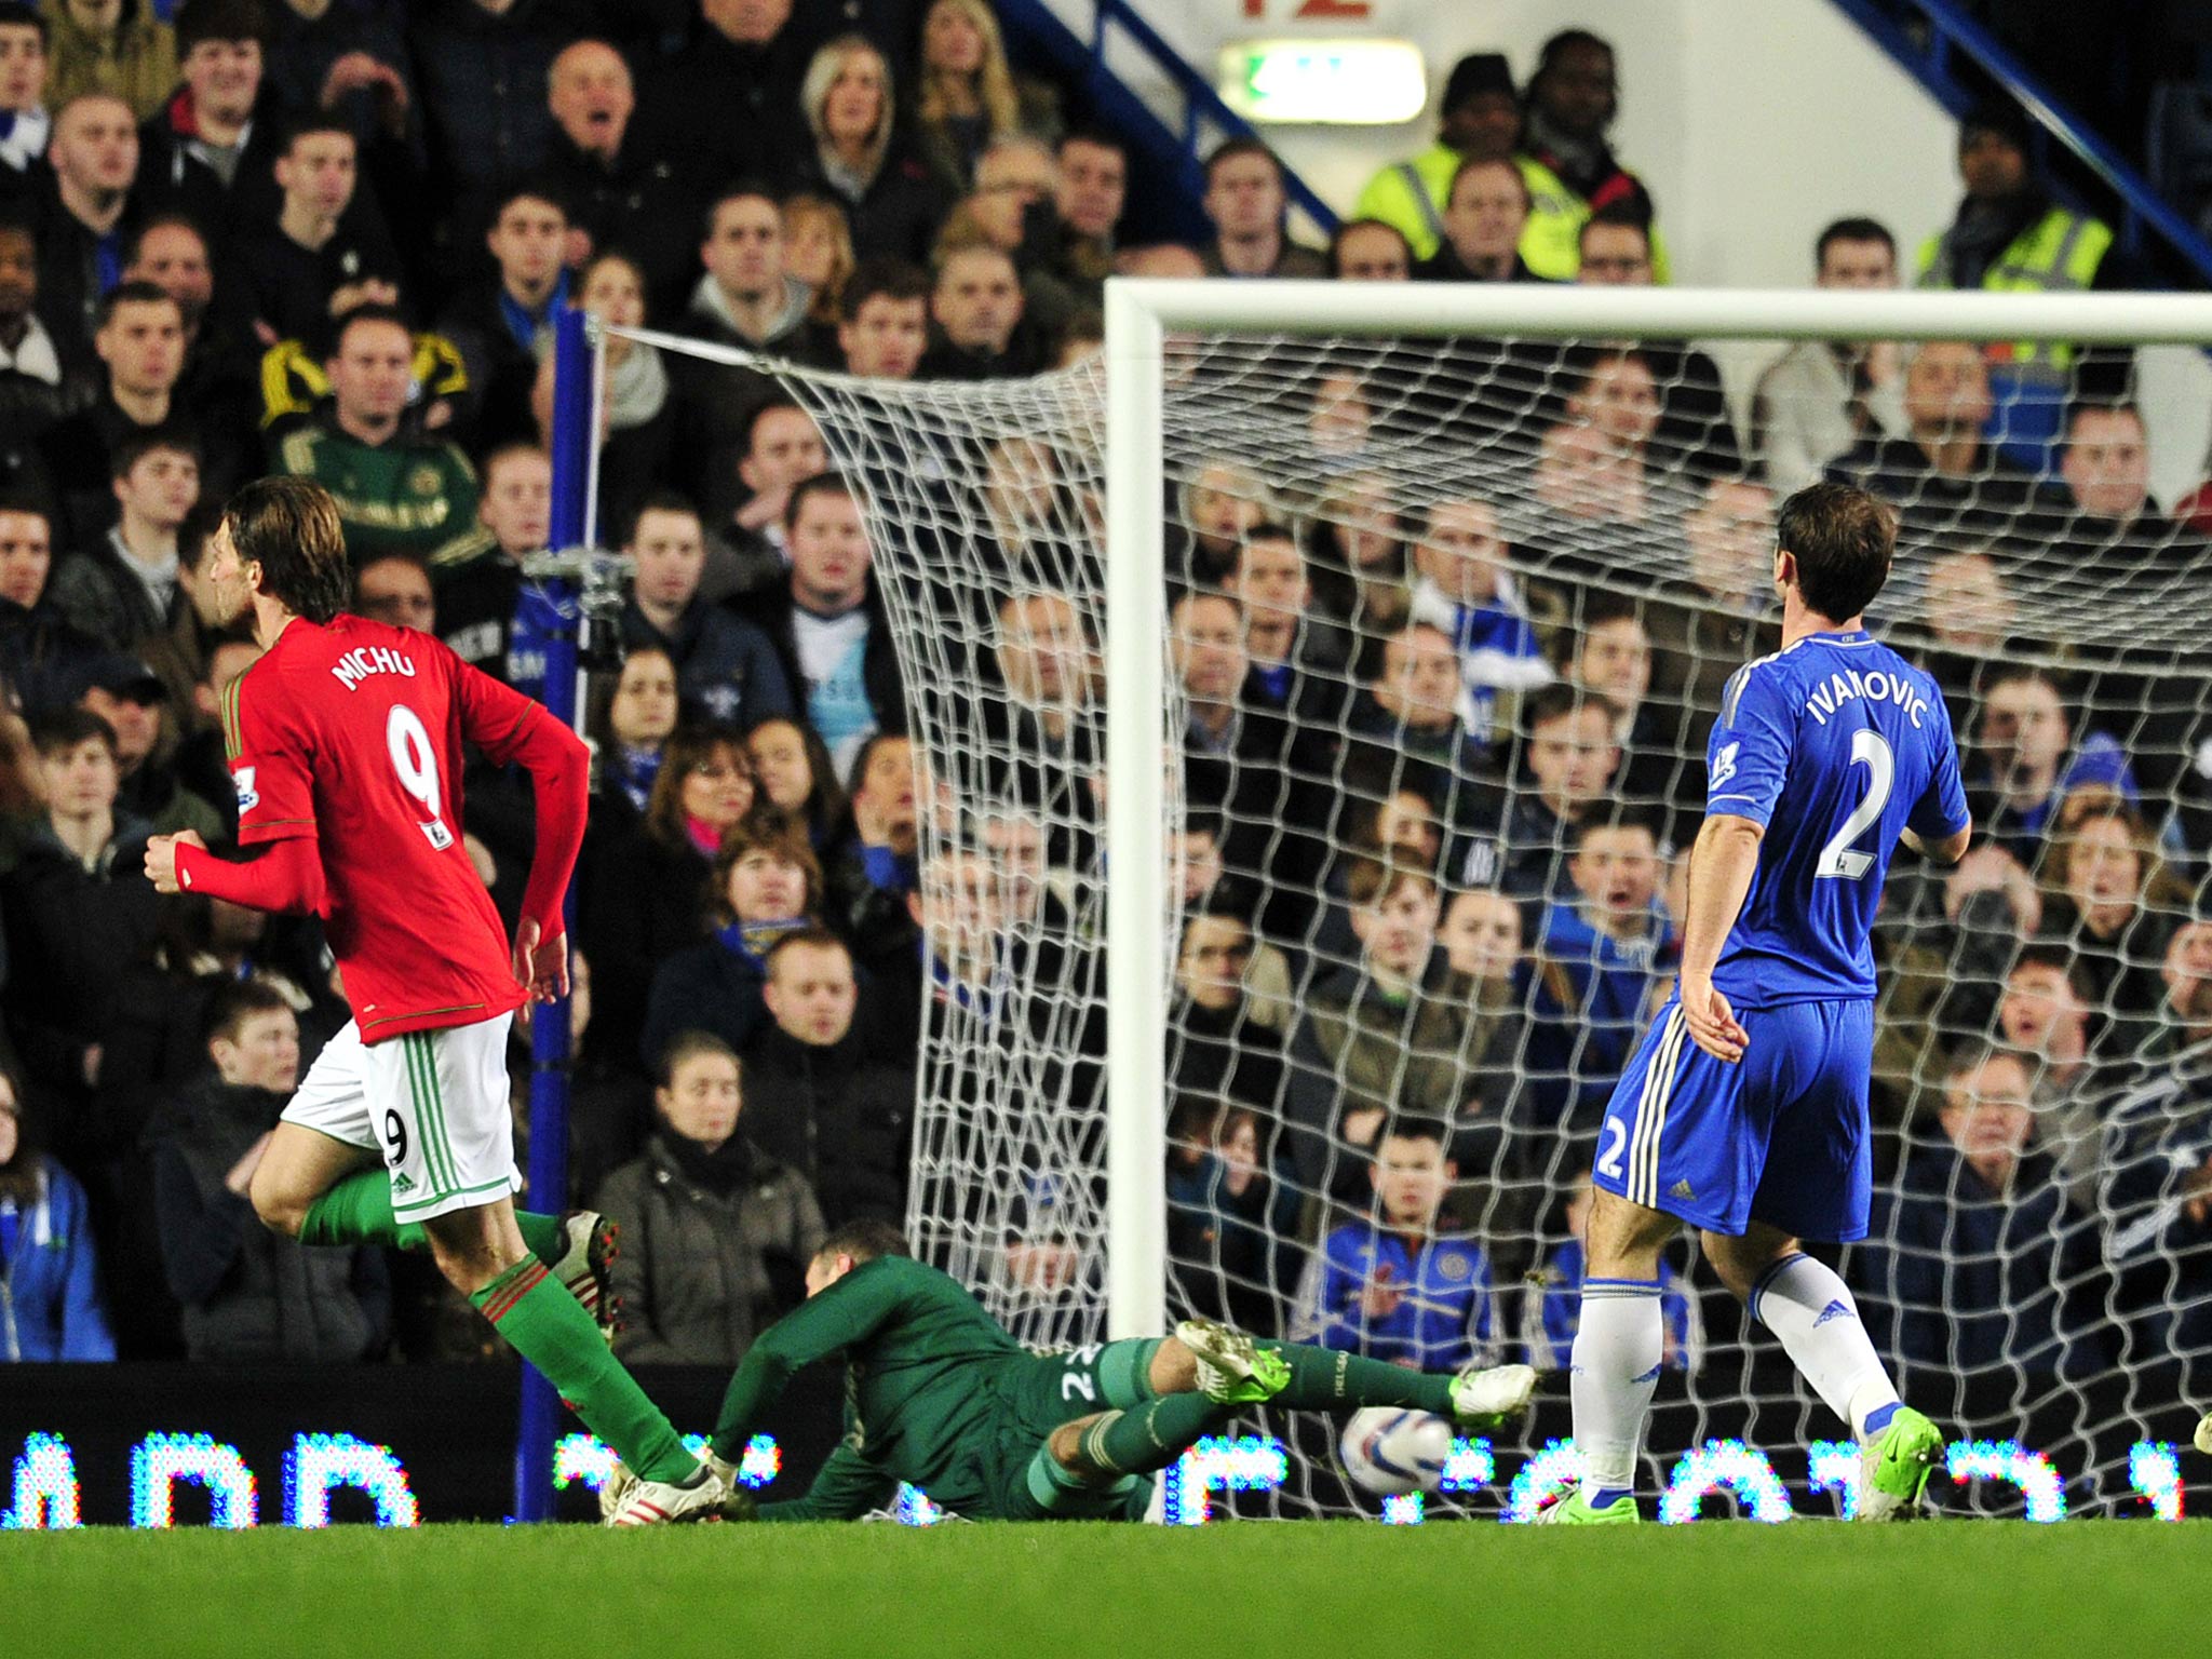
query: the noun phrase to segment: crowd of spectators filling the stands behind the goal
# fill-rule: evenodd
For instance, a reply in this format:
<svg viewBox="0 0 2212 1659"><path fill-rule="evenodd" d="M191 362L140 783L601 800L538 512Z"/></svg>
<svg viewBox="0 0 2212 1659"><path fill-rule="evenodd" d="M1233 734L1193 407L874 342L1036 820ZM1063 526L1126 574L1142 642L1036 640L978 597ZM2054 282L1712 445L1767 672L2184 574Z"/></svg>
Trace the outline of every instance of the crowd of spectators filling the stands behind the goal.
<svg viewBox="0 0 2212 1659"><path fill-rule="evenodd" d="M1329 248L1250 139L1206 164L1210 241L1126 248L1126 144L1011 71L987 0L0 4L0 1352L487 1340L427 1261L254 1223L261 1141L345 1020L330 958L312 918L139 874L148 834L237 818L219 710L257 648L199 566L241 480L330 487L363 615L540 690L520 560L562 307L984 380L1091 356L1115 270L1663 281L1617 97L1584 31L1526 82L1478 53ZM1814 281L2135 281L2026 157L1978 111L1955 223L1905 254L1838 219ZM1440 361L1303 365L1296 467L1223 449L1168 504L1179 1298L1425 1367L1564 1354L1703 734L1776 637L1774 504L1829 473L1902 509L1882 626L1953 701L1982 825L1887 896L1854 1285L1907 1380L2212 1360L2212 726L2201 675L2064 637L2099 588L2205 571L2212 484L2150 498L2128 354L1807 343L1741 427L1681 345ZM1420 500L1376 465L1416 431L1458 449ZM1097 595L1024 553L1084 511L1046 442L973 460L973 531L920 549L991 595L949 646L991 787L947 801L909 737L909 692L947 688L902 684L865 478L768 374L608 349L599 511L635 573L591 708L573 1199L628 1228L635 1360L732 1363L825 1228L905 1214L925 1011L991 1040L1026 989L1093 984ZM471 772L467 823L511 914L526 790ZM1060 1040L1097 1057L1095 1022ZM1002 1272L1066 1292L1037 1217Z"/></svg>

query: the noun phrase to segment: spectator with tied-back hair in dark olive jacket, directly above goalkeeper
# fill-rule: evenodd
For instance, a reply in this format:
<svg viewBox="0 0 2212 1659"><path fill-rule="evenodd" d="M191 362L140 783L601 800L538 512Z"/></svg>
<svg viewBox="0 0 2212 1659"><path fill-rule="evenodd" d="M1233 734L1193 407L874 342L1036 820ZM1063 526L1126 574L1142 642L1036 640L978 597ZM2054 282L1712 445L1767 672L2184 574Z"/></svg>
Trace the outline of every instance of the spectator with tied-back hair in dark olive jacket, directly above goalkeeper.
<svg viewBox="0 0 2212 1659"><path fill-rule="evenodd" d="M624 1225L611 1290L626 1365L737 1365L805 1301L823 1214L805 1177L754 1146L745 1075L721 1040L686 1031L653 1093L646 1152L593 1206Z"/></svg>

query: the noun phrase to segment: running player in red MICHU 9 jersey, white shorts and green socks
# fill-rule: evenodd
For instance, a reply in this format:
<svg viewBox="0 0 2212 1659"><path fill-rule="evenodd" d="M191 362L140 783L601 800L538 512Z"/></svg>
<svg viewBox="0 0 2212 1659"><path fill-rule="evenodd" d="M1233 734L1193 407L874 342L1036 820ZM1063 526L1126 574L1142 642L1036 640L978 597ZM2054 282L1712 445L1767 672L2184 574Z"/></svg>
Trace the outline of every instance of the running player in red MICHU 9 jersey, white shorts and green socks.
<svg viewBox="0 0 2212 1659"><path fill-rule="evenodd" d="M644 1482L611 1520L703 1517L706 1469L606 1347L611 1230L518 1212L507 1029L568 989L562 896L584 838L582 739L431 635L345 615L352 566L332 498L307 480L241 489L208 549L223 622L263 655L223 699L239 845L155 836L146 874L254 909L316 911L354 1009L270 1135L261 1219L301 1243L429 1248L500 1336ZM538 847L513 947L462 847L462 743L518 763ZM374 1170L383 1161L383 1170ZM577 1292L577 1294L571 1294Z"/></svg>

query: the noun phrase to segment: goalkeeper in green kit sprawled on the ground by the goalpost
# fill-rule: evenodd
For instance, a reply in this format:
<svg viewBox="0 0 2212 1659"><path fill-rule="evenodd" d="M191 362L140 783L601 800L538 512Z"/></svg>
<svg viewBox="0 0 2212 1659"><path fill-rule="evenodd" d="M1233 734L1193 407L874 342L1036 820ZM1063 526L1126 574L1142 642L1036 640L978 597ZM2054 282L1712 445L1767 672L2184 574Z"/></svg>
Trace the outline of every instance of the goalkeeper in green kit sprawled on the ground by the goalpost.
<svg viewBox="0 0 2212 1659"><path fill-rule="evenodd" d="M1031 1354L956 1279L907 1256L887 1221L836 1230L807 1265L807 1301L765 1329L730 1378L712 1458L730 1471L792 1371L845 1354L845 1438L803 1498L730 1513L854 1520L898 1482L969 1520L1141 1520L1155 1469L1254 1405L1396 1405L1495 1429L1535 1391L1526 1365L1409 1371L1267 1343L1212 1321L1175 1336ZM626 1471L602 1493L619 1502Z"/></svg>

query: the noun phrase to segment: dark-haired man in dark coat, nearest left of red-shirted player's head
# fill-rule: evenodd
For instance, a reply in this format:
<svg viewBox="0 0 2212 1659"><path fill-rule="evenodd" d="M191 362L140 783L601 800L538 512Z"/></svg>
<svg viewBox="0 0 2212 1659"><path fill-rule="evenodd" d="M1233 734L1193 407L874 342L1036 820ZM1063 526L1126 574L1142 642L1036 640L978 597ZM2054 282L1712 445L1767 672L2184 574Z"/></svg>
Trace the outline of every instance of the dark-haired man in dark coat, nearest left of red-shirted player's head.
<svg viewBox="0 0 2212 1659"><path fill-rule="evenodd" d="M199 449L177 431L131 434L108 460L115 529L62 560L53 604L106 650L166 635L188 599L177 584L177 531L199 502Z"/></svg>

